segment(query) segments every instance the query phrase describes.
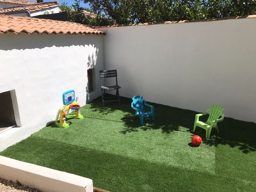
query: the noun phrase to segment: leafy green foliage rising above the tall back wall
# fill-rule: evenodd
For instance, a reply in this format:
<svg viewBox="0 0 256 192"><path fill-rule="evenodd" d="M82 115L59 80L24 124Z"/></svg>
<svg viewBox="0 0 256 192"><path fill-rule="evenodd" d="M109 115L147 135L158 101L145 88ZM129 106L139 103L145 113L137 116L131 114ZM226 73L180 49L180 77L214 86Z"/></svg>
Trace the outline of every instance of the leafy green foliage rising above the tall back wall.
<svg viewBox="0 0 256 192"><path fill-rule="evenodd" d="M83 14L79 2L67 6L69 20L89 25L196 20L256 14L256 0L84 0L96 18Z"/></svg>

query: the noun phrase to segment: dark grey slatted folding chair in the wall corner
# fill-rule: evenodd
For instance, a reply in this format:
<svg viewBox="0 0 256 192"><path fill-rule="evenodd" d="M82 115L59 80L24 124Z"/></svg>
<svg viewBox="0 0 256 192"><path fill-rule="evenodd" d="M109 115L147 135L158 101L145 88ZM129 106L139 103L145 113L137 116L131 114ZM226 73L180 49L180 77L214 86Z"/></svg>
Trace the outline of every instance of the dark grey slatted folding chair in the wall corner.
<svg viewBox="0 0 256 192"><path fill-rule="evenodd" d="M102 78L109 78L109 77L116 77L116 85L113 85L113 86L103 86L101 79ZM116 72L116 70L100 71L100 86L101 86L101 95L102 95L103 107L105 106L105 102L115 102L115 101L118 101L119 105L121 104L120 103L120 97L119 97L119 91L118 91L118 89L120 89L121 87L119 85L117 85L117 72ZM105 98L105 91L106 90L116 90L116 97ZM111 99L114 99L114 100L111 100Z"/></svg>

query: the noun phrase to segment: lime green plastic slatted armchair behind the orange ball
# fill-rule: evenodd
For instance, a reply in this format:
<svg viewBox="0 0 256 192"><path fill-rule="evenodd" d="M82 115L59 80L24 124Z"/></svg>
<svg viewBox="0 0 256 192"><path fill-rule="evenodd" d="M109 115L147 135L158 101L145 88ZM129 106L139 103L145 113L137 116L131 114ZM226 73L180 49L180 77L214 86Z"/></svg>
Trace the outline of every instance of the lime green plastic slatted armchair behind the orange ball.
<svg viewBox="0 0 256 192"><path fill-rule="evenodd" d="M204 113L197 114L193 131L196 130L196 126L205 129L206 130L206 134L205 134L206 139L210 138L212 128L217 129L217 132L219 133L217 123L220 121L223 121L223 119L224 119L224 114L222 113L223 110L224 109L220 105L212 105ZM205 123L202 121L199 121L199 117L208 114L208 112L210 112L210 114L209 114L207 121ZM221 116L221 118L218 119L220 116Z"/></svg>

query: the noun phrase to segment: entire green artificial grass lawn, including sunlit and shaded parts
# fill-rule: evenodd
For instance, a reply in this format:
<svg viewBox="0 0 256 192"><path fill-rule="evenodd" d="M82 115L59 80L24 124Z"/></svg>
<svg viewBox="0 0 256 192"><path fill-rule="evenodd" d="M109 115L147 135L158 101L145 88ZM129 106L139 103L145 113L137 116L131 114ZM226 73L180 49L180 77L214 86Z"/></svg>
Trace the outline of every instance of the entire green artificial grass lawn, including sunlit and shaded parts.
<svg viewBox="0 0 256 192"><path fill-rule="evenodd" d="M68 129L51 124L0 155L91 178L112 192L256 191L256 124L225 118L206 140L203 129L191 132L197 112L153 104L156 122L140 126L132 100L121 101L103 108L97 98ZM194 134L199 147L190 143Z"/></svg>

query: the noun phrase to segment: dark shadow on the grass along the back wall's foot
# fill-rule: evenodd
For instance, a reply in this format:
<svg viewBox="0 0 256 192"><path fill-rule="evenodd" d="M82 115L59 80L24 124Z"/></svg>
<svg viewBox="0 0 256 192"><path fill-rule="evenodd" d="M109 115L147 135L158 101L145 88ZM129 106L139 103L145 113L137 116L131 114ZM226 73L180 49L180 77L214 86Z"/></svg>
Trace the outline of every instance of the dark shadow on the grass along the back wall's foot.
<svg viewBox="0 0 256 192"><path fill-rule="evenodd" d="M203 143L209 146L238 147L244 154L256 151L255 123L225 117L222 122L218 123L220 133L217 133L216 129L212 129L210 139L206 139L204 129L196 127L196 131L193 132L195 115L199 112L148 102L155 107L156 121L154 122L151 117L148 117L144 119L143 126L140 126L139 116L134 117L135 110L131 108L131 103L132 99L121 97L121 105L108 103L106 107L102 107L101 97L99 97L90 104L92 112L99 112L103 115L109 115L116 110L123 111L124 116L120 119L124 124L124 130L120 132L122 134L156 129L165 134L170 134L173 131L189 132L191 137L193 135L202 137ZM150 108L145 107L145 110L150 110ZM202 116L200 121L206 121L207 118L207 115Z"/></svg>

